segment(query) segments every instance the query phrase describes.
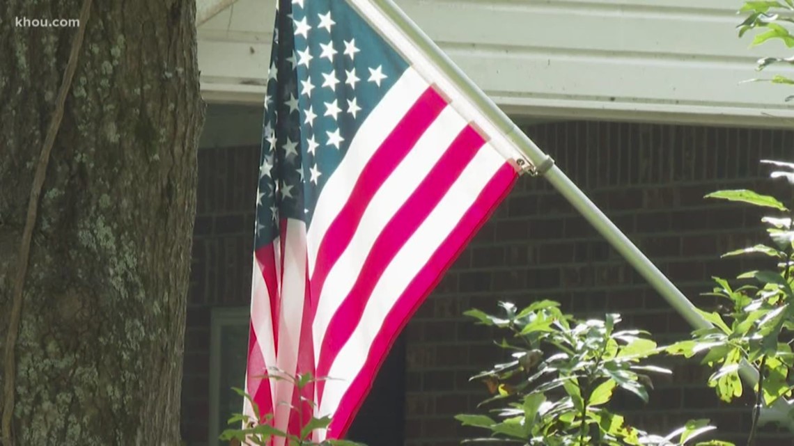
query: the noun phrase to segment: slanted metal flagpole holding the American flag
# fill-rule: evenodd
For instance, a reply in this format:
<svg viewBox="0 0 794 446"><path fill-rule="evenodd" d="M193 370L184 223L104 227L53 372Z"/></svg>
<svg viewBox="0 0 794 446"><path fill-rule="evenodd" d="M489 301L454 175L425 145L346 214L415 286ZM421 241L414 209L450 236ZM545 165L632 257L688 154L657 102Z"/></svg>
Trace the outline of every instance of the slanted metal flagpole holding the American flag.
<svg viewBox="0 0 794 446"><path fill-rule="evenodd" d="M449 80L449 83L456 87L465 98L475 104L480 109L480 113L483 113L507 140L510 140L526 155L527 160L534 167L534 173L545 176L554 188L595 227L601 236L607 239L612 247L684 317L689 325L692 325L694 329L706 329L713 326L697 312L696 306L659 271L648 257L604 215L598 206L595 206L590 198L554 164L551 157L538 148L521 129L518 129L518 126L479 87L476 87L475 83L468 79L468 76L452 60L449 60L449 57L441 51L441 48L438 48L433 40L430 40L430 37L427 37L422 29L419 29L414 24L414 21L411 21L403 13L403 10L400 10L391 0L372 0L372 3L391 21L392 25L395 25L408 37L411 44L414 44L414 49L431 60L435 67ZM750 367L749 364L743 364L739 372L747 383L752 386L757 384L757 371ZM762 412L762 418L765 421L776 421L788 425L788 429L794 431L794 420L788 416L789 409L791 409L791 404L780 398L772 408L765 409Z"/></svg>

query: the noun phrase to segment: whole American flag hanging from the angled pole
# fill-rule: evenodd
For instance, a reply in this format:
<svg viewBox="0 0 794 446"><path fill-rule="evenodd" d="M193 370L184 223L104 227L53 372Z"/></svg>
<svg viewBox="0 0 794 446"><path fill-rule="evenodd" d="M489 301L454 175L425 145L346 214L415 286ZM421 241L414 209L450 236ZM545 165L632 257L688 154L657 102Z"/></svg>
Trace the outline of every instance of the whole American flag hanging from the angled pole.
<svg viewBox="0 0 794 446"><path fill-rule="evenodd" d="M403 325L518 176L367 5L281 0L265 98L246 391L282 431L330 415L315 440L345 435ZM268 367L332 379L299 395Z"/></svg>

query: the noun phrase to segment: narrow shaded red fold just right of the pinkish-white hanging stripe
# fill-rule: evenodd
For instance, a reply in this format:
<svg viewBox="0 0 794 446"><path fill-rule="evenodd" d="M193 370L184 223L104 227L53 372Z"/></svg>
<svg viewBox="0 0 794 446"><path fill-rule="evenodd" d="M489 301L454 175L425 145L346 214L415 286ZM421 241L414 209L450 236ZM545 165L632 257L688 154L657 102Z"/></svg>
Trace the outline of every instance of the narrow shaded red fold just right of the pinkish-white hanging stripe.
<svg viewBox="0 0 794 446"><path fill-rule="evenodd" d="M308 259L306 259L306 271L309 271ZM306 294L303 301L303 317L301 318L300 329L300 345L298 349L298 363L296 366L295 375L306 375L314 373L314 342L311 336L311 296L309 279L306 278ZM303 398L303 400L301 399ZM287 433L299 435L300 429L311 419L314 414L314 407L310 405L310 401L314 401L314 383L306 384L303 389L292 390L292 407L299 408L298 410L292 409L290 411L290 419L287 423Z"/></svg>

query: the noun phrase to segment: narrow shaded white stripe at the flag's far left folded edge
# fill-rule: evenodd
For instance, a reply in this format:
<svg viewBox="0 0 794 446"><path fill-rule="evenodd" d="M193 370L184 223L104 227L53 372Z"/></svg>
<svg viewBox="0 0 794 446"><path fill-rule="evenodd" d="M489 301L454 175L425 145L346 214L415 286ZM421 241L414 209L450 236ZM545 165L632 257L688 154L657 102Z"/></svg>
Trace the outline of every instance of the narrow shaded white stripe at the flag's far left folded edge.
<svg viewBox="0 0 794 446"><path fill-rule="evenodd" d="M276 239L276 243L278 243ZM260 348L264 364L267 367L274 367L276 365L276 348L273 342L273 321L272 310L270 308L270 294L268 293L268 285L264 282L262 269L259 262L256 260L256 254L253 256L253 271L251 283L251 325L254 333L256 333L256 344ZM258 375L264 375L267 370L256 371ZM251 396L256 394L257 389L248 388L248 373L246 371L245 386L246 392ZM273 399L271 386L271 401ZM252 409L246 404L246 409L251 410L250 414L253 416Z"/></svg>

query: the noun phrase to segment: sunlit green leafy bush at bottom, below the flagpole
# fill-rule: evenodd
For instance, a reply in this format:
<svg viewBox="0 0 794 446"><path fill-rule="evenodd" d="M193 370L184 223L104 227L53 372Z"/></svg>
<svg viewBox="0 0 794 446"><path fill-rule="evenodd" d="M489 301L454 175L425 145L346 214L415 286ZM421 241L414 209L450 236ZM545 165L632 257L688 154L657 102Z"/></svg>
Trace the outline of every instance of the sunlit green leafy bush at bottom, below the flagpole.
<svg viewBox="0 0 794 446"><path fill-rule="evenodd" d="M486 429L491 439L530 446L683 445L713 429L707 420L696 420L658 436L629 425L608 408L615 390L647 402L652 384L645 373L670 373L646 363L665 348L642 330L616 330L618 314L578 320L561 313L552 301L534 302L520 311L511 303L500 306L499 315L466 312L482 325L509 332L497 345L513 359L472 377L488 386L491 398L480 406L491 406L491 415L458 415L463 425ZM484 440L489 439L471 441Z"/></svg>

